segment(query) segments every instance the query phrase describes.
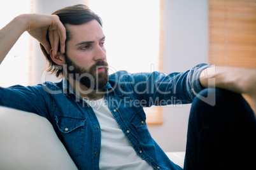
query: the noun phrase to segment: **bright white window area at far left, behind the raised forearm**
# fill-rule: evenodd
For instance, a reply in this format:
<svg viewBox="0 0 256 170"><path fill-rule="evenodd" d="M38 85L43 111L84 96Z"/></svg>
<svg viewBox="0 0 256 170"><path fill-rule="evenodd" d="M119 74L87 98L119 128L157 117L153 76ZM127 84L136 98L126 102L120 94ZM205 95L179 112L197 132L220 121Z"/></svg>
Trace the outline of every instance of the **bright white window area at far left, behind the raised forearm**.
<svg viewBox="0 0 256 170"><path fill-rule="evenodd" d="M0 29L8 24L15 16L29 13L30 0L4 1L0 6ZM14 84L24 86L30 84L30 54L29 35L25 32L8 53L0 67L0 86L8 87Z"/></svg>

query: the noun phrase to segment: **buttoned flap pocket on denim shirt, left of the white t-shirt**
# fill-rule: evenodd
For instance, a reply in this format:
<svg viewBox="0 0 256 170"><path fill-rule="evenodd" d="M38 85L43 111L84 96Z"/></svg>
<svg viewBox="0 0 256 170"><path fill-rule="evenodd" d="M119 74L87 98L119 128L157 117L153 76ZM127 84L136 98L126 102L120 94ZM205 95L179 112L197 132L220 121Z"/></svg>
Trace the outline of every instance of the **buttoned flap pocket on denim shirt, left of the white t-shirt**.
<svg viewBox="0 0 256 170"><path fill-rule="evenodd" d="M86 118L55 116L57 127L71 157L83 154Z"/></svg>

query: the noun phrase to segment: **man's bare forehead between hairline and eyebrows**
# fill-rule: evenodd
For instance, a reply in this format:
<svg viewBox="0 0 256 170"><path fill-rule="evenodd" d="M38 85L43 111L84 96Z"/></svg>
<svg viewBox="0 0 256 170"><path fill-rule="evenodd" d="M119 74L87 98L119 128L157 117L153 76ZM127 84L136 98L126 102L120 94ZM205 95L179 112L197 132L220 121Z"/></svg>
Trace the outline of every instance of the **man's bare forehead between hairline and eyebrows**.
<svg viewBox="0 0 256 170"><path fill-rule="evenodd" d="M91 20L80 25L68 25L71 42L96 41L104 36L103 29L97 20Z"/></svg>

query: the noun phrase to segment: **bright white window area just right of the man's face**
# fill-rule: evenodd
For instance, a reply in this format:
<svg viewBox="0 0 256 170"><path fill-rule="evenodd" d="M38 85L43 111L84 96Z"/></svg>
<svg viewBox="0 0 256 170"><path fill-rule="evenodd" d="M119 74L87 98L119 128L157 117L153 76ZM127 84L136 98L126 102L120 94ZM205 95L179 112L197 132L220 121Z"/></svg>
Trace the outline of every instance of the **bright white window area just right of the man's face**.
<svg viewBox="0 0 256 170"><path fill-rule="evenodd" d="M158 70L159 0L93 0L89 7L103 20L110 74Z"/></svg>

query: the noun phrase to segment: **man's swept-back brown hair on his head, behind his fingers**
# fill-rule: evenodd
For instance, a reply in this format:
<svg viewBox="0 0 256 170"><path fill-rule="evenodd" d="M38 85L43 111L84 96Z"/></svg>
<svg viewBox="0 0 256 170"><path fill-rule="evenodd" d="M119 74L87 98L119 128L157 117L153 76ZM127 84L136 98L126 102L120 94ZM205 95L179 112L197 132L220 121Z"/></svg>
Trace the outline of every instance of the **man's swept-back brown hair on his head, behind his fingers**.
<svg viewBox="0 0 256 170"><path fill-rule="evenodd" d="M96 15L93 11L91 11L87 6L83 4L78 4L75 6L68 6L66 8L62 8L60 10L57 10L52 13L53 15L59 16L60 22L64 25L66 28L66 42L68 42L71 39L71 32L68 30L67 24L71 25L80 25L82 23L89 22L91 20L97 20L99 24L102 27L102 21L101 18ZM46 35L47 41L50 43L48 32ZM46 60L48 61L48 72L55 73L56 77L62 77L62 67L57 65L52 61L52 58L48 53L46 52L46 49L43 47L42 44L40 44L41 50L43 51L43 55L45 55ZM60 46L58 48L58 51L60 51Z"/></svg>

